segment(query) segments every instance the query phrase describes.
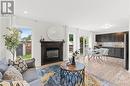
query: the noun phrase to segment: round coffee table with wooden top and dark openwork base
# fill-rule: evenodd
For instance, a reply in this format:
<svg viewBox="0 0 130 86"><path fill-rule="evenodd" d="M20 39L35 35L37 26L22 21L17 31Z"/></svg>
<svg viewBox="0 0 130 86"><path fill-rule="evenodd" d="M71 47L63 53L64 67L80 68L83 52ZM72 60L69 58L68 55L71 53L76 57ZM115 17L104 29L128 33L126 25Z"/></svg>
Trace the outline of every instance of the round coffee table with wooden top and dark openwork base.
<svg viewBox="0 0 130 86"><path fill-rule="evenodd" d="M66 86L84 86L85 65L76 62L71 65L68 62L63 62L60 65L61 85Z"/></svg>

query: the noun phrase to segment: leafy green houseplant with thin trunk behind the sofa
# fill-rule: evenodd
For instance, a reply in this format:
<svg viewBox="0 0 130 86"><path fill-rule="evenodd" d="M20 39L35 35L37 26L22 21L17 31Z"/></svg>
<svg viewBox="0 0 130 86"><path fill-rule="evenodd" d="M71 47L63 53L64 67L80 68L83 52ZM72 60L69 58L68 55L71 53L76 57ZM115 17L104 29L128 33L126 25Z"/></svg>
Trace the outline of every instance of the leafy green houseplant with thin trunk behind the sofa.
<svg viewBox="0 0 130 86"><path fill-rule="evenodd" d="M7 34L3 35L5 40L5 46L11 52L14 60L16 48L20 43L19 41L20 31L15 27L7 27L7 30L8 30Z"/></svg>

